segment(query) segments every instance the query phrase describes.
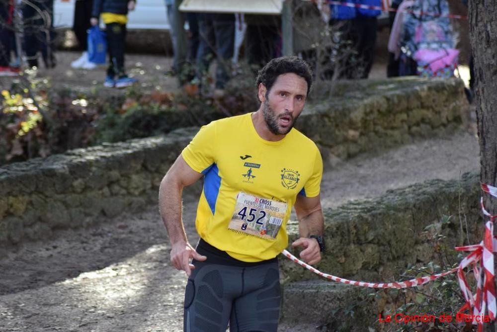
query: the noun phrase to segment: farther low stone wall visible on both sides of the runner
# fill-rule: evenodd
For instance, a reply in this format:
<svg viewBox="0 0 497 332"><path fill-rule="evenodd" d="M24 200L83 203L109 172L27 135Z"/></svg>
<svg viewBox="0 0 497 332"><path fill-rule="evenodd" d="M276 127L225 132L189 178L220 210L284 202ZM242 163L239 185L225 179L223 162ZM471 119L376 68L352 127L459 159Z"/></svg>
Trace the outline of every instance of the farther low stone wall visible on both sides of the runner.
<svg viewBox="0 0 497 332"><path fill-rule="evenodd" d="M467 108L459 80L345 82L334 95L298 122L331 163L446 133L461 125ZM0 244L41 239L156 202L162 177L197 130L0 167Z"/></svg>

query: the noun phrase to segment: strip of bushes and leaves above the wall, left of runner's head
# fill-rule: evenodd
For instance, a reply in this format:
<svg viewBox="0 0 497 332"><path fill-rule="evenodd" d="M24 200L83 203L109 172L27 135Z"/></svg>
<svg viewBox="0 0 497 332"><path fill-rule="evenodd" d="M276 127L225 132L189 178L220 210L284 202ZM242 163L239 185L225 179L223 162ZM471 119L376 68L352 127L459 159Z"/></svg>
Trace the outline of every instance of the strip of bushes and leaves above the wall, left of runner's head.
<svg viewBox="0 0 497 332"><path fill-rule="evenodd" d="M47 80L23 77L2 91L0 103L0 131L6 133L0 137L0 165L201 126L258 106L253 73L242 69L217 99L191 84L177 94L132 87L109 96L54 90Z"/></svg>

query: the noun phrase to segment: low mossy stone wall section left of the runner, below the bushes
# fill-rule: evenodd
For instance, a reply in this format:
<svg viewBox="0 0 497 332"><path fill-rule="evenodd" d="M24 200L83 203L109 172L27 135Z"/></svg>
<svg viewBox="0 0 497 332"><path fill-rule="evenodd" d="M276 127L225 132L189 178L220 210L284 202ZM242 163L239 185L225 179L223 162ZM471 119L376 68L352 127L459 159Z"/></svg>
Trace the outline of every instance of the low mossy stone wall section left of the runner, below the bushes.
<svg viewBox="0 0 497 332"><path fill-rule="evenodd" d="M156 202L162 177L197 130L0 168L0 244L44 238Z"/></svg>

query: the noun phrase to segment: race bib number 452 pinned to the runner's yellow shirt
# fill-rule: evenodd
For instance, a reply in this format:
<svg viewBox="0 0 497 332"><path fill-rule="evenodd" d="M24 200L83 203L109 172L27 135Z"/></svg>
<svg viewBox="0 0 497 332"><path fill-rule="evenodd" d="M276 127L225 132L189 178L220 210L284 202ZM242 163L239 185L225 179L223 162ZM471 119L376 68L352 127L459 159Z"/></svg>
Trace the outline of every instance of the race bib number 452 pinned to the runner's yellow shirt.
<svg viewBox="0 0 497 332"><path fill-rule="evenodd" d="M287 203L240 192L228 229L274 240L278 235Z"/></svg>

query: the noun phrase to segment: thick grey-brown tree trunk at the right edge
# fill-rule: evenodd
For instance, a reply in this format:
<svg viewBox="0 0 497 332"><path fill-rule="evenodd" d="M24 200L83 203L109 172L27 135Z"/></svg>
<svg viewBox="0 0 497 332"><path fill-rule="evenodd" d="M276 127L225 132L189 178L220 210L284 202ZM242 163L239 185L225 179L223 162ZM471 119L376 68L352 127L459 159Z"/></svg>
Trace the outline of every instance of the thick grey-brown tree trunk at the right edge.
<svg viewBox="0 0 497 332"><path fill-rule="evenodd" d="M469 19L476 79L480 179L482 183L497 186L497 1L469 0ZM483 195L487 211L497 214L497 199ZM495 331L495 327L488 326L486 330Z"/></svg>

